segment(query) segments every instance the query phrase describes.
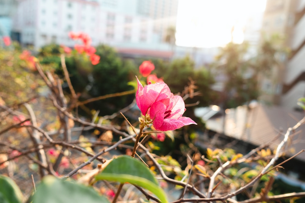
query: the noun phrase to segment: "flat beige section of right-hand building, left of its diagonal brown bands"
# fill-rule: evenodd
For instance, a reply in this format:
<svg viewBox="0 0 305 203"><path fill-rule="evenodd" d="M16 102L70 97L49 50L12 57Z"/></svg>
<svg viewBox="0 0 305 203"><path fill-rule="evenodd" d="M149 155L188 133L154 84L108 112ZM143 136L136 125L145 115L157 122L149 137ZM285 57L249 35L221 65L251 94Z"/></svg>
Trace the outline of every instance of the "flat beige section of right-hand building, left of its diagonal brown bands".
<svg viewBox="0 0 305 203"><path fill-rule="evenodd" d="M263 17L262 40L278 34L285 38L278 47L289 47L289 37L294 26L295 4L298 0L267 0ZM285 77L285 57L277 57L278 65L271 67L271 75L263 76L261 81L262 96L260 100L267 103L281 104L281 89Z"/></svg>

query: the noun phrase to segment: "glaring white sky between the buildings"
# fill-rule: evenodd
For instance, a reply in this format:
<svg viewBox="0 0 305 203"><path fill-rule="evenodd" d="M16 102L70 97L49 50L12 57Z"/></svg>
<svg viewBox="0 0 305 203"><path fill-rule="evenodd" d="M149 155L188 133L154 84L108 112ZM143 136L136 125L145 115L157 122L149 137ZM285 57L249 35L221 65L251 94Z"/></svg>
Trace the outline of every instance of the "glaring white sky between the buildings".
<svg viewBox="0 0 305 203"><path fill-rule="evenodd" d="M266 0L179 0L176 44L188 47L219 47L244 39L249 16L262 13Z"/></svg>

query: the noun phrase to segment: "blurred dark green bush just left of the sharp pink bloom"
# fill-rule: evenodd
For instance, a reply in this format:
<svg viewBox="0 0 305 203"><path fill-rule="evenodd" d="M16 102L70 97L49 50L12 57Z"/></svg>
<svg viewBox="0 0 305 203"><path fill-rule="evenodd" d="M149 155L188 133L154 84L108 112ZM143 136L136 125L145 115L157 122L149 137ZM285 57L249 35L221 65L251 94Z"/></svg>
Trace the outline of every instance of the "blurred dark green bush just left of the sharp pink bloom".
<svg viewBox="0 0 305 203"><path fill-rule="evenodd" d="M123 61L112 47L106 45L96 47L96 54L101 59L92 71L93 82L91 83L91 89L88 91L92 97L134 89L127 85L129 81L135 79L137 72L137 68L131 61ZM90 104L90 107L99 107L101 115L112 114L126 107L134 97L134 94L113 97L94 102Z"/></svg>

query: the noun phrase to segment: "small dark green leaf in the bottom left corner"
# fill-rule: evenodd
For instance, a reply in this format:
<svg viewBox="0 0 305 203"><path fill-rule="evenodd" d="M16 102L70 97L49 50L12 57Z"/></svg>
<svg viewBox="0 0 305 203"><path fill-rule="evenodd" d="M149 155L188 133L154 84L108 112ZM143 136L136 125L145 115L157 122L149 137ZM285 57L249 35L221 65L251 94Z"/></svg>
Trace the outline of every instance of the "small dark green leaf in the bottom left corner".
<svg viewBox="0 0 305 203"><path fill-rule="evenodd" d="M0 175L0 202L23 202L23 195L16 183L9 177Z"/></svg>

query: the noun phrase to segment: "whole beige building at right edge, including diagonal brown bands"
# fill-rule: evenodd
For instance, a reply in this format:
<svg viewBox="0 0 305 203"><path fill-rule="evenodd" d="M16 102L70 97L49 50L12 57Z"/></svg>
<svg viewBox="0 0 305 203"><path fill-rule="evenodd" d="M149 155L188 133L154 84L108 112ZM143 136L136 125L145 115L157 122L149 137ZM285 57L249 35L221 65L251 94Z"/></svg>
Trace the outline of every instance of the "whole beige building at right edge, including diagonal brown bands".
<svg viewBox="0 0 305 203"><path fill-rule="evenodd" d="M288 58L275 56L280 64L273 68L271 77L263 79L261 99L290 110L297 109L297 100L305 96L304 13L305 0L267 0L263 19L263 37L284 37L278 45L289 48L291 53Z"/></svg>

